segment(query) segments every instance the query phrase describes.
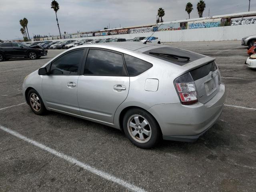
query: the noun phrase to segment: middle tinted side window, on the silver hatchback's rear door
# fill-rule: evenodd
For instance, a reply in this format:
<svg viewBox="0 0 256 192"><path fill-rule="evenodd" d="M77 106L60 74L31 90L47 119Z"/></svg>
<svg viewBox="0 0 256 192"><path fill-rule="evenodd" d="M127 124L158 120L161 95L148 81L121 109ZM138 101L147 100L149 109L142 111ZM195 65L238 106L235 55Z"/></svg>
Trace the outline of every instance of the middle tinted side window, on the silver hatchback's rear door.
<svg viewBox="0 0 256 192"><path fill-rule="evenodd" d="M122 54L90 49L86 59L84 74L126 76Z"/></svg>

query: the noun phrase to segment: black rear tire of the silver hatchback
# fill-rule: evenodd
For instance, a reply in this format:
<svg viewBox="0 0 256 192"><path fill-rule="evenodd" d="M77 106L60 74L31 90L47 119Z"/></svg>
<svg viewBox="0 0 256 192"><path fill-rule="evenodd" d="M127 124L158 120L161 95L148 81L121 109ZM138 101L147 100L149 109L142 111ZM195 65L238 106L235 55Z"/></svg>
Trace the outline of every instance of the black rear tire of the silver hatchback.
<svg viewBox="0 0 256 192"><path fill-rule="evenodd" d="M139 127L136 125L137 129L135 129L132 126L128 126L128 124L130 125L130 122L135 120L135 118L137 116L140 118L139 119L139 121L140 121ZM134 119L131 121L132 118L134 118ZM146 124L146 126L142 125L144 122L143 118L144 118L144 120L146 120L146 122L148 122L148 124ZM144 130L143 130L142 126L143 126ZM123 118L123 128L124 128L123 129L124 133L129 138L129 140L134 145L136 145L140 148L144 148L144 149L150 149L150 148L156 146L156 144L158 144L158 142L160 141L161 136L162 136L162 132L161 132L160 127L159 127L158 123L156 122L155 118L150 113L148 113L147 111L142 110L140 108L132 108L126 112L126 114L124 115L124 118ZM137 134L135 133L136 135L132 136L132 132L135 132L135 130L136 130ZM145 130L151 131L150 137L143 133ZM140 140L138 138L138 137L140 137L140 134L143 135L143 138L145 138L145 137L147 137L147 138L145 138L145 140ZM140 142L138 142L138 140L140 140ZM141 142L144 142L144 143L141 143Z"/></svg>

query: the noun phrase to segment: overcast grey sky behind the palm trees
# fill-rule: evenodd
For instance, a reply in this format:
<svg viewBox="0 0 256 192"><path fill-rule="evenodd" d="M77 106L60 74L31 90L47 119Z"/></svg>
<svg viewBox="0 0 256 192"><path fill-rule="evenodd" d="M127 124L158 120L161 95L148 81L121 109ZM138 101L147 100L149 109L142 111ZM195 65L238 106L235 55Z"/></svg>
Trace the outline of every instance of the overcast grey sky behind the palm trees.
<svg viewBox="0 0 256 192"><path fill-rule="evenodd" d="M165 11L163 20L183 20L187 2L194 6L190 18L198 18L196 4L199 0L57 0L60 32L77 31L151 24L156 22L157 10ZM58 35L55 12L50 8L52 0L0 0L0 39L22 38L19 20L28 19L30 38L33 34ZM249 0L204 0L203 16L230 14L248 11ZM251 0L250 10L256 10L256 0Z"/></svg>

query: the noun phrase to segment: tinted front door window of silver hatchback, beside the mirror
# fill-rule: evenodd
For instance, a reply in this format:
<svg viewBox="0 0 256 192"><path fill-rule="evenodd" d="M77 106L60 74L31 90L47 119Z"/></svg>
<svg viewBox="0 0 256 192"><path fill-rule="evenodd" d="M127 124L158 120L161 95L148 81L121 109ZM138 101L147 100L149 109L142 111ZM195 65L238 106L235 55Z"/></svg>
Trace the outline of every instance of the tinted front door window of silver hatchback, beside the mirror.
<svg viewBox="0 0 256 192"><path fill-rule="evenodd" d="M81 69L84 50L69 52L52 62L50 74L77 75Z"/></svg>

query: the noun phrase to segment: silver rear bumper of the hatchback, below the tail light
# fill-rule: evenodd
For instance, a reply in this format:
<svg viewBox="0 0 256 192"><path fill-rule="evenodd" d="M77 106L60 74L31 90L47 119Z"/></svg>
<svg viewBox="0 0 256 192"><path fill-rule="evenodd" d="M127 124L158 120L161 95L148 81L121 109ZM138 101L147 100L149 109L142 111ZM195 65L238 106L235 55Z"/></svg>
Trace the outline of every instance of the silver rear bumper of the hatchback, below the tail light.
<svg viewBox="0 0 256 192"><path fill-rule="evenodd" d="M224 101L225 86L220 84L218 93L205 104L157 104L148 111L158 121L163 139L188 142L197 140L218 120Z"/></svg>

